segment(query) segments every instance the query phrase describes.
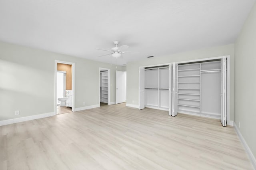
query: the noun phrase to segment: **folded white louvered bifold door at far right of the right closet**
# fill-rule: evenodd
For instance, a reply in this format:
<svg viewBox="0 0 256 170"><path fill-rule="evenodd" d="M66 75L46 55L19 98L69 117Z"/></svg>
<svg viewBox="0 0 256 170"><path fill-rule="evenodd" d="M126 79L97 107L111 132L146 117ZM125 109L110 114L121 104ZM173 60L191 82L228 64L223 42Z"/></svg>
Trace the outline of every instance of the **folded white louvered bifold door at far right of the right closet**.
<svg viewBox="0 0 256 170"><path fill-rule="evenodd" d="M226 57L222 57L221 59L221 94L220 94L220 105L221 105L221 114L220 121L222 126L226 127L227 123L227 94L226 94Z"/></svg>

